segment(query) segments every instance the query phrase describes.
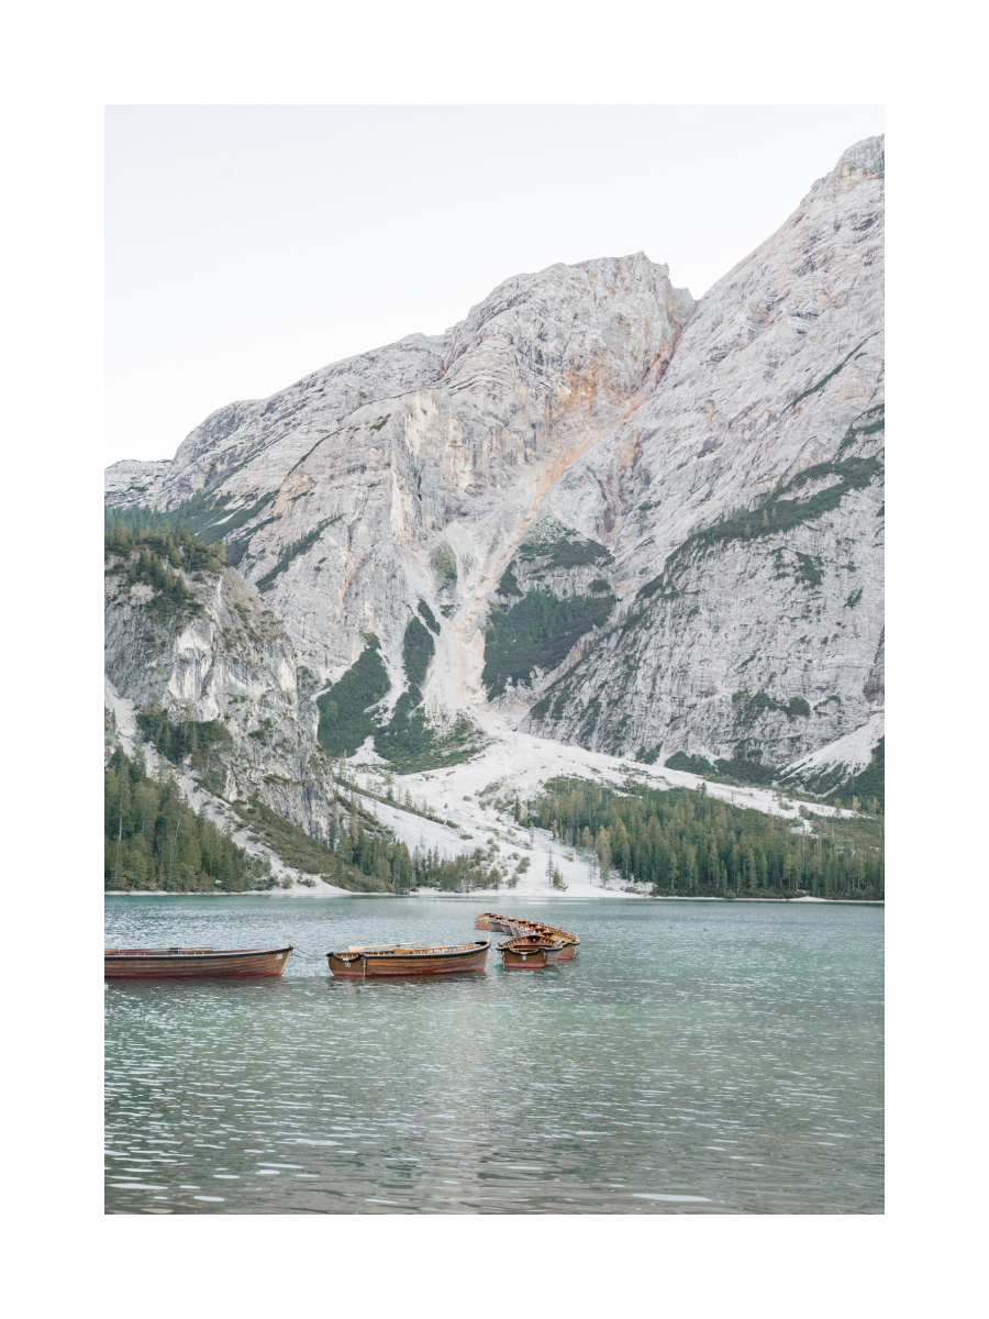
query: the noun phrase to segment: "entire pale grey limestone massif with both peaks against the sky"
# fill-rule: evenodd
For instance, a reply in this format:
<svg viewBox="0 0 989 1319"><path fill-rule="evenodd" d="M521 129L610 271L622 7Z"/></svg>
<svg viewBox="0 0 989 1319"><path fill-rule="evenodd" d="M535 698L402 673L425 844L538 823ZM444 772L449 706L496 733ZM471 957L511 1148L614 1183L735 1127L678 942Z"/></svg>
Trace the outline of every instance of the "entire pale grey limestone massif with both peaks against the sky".
<svg viewBox="0 0 989 1319"><path fill-rule="evenodd" d="M493 707L622 754L812 753L882 699L882 177L881 138L851 148L699 305L642 253L508 280L444 335L116 464L108 503L225 534L224 590L252 584L306 695L373 633L386 718L425 603L436 721ZM181 653L165 686L232 718ZM311 736L290 689L286 669L269 699Z"/></svg>

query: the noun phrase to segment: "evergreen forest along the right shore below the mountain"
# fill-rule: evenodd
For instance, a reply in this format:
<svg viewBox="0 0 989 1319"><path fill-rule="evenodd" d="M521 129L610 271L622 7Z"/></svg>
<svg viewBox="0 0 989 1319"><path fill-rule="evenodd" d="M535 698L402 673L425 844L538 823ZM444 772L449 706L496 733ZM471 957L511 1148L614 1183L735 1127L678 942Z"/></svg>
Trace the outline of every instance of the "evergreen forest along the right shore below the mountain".
<svg viewBox="0 0 989 1319"><path fill-rule="evenodd" d="M696 790L553 780L529 814L603 876L698 897L881 898L882 822L765 815ZM810 824L810 832L806 826Z"/></svg>

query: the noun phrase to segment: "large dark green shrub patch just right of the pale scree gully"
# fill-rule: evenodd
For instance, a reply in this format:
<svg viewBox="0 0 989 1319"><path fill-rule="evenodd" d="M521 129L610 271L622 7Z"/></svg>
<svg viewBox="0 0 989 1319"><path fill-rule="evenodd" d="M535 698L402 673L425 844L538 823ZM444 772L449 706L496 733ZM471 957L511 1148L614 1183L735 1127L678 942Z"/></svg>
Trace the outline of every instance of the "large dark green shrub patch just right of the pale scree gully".
<svg viewBox="0 0 989 1319"><path fill-rule="evenodd" d="M488 695L502 695L509 682L527 686L537 669L556 669L584 633L604 625L614 603L611 594L560 599L553 591L526 591L510 608L492 605L481 674Z"/></svg>

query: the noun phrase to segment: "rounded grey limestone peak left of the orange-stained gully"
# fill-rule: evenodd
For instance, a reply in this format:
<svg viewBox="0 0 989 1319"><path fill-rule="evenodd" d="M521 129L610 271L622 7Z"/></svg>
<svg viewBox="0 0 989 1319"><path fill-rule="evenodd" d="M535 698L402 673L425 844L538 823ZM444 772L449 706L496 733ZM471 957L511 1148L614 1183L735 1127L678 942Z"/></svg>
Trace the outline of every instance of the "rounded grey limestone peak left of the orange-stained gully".
<svg viewBox="0 0 989 1319"><path fill-rule="evenodd" d="M240 570L299 656L336 677L372 630L401 681L418 599L446 609L443 649L469 640L492 561L653 388L692 309L641 255L520 276L440 339L413 335L215 413L157 477L154 503L208 491L237 509L268 496ZM456 708L459 687L435 702Z"/></svg>

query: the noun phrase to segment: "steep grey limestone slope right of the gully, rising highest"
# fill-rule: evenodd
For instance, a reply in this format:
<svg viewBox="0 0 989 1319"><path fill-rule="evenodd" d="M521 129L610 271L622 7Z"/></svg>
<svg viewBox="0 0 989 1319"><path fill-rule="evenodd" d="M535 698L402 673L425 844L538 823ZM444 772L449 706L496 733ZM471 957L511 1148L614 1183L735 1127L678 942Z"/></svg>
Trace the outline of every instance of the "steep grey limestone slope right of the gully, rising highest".
<svg viewBox="0 0 989 1319"><path fill-rule="evenodd" d="M629 619L530 727L786 764L881 706L882 186L881 140L847 152L558 483Z"/></svg>

